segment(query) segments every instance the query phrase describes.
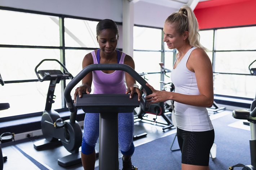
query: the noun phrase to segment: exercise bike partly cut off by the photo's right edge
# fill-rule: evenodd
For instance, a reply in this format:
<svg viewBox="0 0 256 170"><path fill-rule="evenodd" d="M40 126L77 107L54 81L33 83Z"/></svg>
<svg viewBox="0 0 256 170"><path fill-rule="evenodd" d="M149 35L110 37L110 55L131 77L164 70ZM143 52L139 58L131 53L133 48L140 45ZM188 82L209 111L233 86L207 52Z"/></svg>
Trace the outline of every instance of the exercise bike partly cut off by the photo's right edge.
<svg viewBox="0 0 256 170"><path fill-rule="evenodd" d="M256 61L256 60L255 60ZM256 68L251 68L253 61L249 65L251 75L256 75ZM232 116L235 119L248 120L251 128L251 140L250 140L250 153L251 153L251 165L237 164L229 167L229 170L233 170L234 167L243 167L242 170L256 170L256 97L251 104L250 111L245 109L234 110Z"/></svg>

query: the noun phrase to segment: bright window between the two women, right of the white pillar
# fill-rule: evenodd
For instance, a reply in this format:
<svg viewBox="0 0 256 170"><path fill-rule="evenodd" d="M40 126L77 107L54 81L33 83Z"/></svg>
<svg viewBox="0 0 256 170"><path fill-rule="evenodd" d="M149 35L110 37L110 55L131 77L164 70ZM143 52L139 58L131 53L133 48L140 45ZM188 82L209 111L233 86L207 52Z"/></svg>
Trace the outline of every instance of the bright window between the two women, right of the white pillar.
<svg viewBox="0 0 256 170"><path fill-rule="evenodd" d="M135 70L138 73L147 73L144 75L146 81L158 90L163 85L160 81L171 81L170 78L163 76L159 63L164 63L168 69L173 65L173 50L164 46L162 34L163 30L160 28L133 27Z"/></svg>

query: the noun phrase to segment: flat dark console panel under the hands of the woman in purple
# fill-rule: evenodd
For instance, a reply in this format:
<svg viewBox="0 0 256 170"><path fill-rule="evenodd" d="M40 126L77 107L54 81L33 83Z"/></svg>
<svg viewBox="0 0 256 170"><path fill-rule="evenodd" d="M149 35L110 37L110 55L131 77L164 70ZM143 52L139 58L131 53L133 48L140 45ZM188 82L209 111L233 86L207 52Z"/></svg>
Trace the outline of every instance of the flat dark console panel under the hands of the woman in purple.
<svg viewBox="0 0 256 170"><path fill-rule="evenodd" d="M132 98L129 94L82 94L76 97L75 107L81 107L85 113L133 112L139 107L138 94L134 93Z"/></svg>

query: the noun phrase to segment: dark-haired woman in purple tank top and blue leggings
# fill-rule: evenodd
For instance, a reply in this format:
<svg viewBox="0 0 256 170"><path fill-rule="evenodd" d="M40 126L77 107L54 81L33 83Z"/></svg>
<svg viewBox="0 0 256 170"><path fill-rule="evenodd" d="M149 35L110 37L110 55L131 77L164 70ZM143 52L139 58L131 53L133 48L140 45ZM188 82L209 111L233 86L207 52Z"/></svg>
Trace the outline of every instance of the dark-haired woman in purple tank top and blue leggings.
<svg viewBox="0 0 256 170"><path fill-rule="evenodd" d="M126 64L135 68L134 61L131 56L124 52L116 50L119 33L118 26L110 19L101 20L96 27L97 42L100 49L94 50L85 55L82 67L85 68L90 64ZM124 78L127 88L124 83ZM91 93L92 82L94 84L94 94L122 94L138 93L138 101L141 98L141 92L135 79L128 73L120 70L96 70L87 74L82 79L82 85L76 88L74 99L81 93ZM84 118L84 136L81 149L81 158L85 170L94 170L96 161L95 145L99 137L99 120L100 114L86 113ZM118 141L121 153L123 154L123 170L132 170L131 157L134 152L133 130L134 119L133 113L118 114Z"/></svg>

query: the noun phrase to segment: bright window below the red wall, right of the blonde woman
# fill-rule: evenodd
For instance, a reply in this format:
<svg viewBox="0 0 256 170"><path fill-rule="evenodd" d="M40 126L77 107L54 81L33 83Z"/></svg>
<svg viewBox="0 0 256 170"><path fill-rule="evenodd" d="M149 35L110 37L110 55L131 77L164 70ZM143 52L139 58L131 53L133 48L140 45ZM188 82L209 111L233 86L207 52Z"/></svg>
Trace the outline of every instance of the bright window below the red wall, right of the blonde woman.
<svg viewBox="0 0 256 170"><path fill-rule="evenodd" d="M207 54L213 62L216 95L255 98L256 77L248 69L256 59L255 31L256 26L200 31L200 43L213 50Z"/></svg>

